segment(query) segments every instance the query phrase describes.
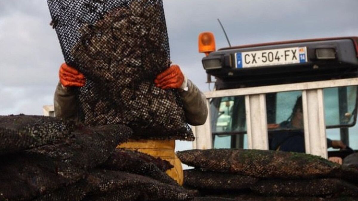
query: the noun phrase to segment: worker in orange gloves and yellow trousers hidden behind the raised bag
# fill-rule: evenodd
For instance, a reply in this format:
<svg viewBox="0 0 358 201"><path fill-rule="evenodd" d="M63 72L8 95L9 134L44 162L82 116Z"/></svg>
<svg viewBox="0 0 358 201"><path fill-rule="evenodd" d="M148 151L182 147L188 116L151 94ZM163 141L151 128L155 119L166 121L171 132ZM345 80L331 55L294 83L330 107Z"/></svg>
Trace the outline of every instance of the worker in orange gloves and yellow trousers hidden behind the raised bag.
<svg viewBox="0 0 358 201"><path fill-rule="evenodd" d="M60 82L54 95L55 116L80 123L74 87L83 87L86 78L66 63L60 67L59 78ZM188 124L199 126L205 123L208 116L205 95L186 78L178 65L171 65L160 73L154 80L154 84L162 89L179 90ZM166 173L180 185L183 184L183 168L179 158L175 155L175 140L130 140L120 144L117 148L136 150L170 162L174 168Z"/></svg>

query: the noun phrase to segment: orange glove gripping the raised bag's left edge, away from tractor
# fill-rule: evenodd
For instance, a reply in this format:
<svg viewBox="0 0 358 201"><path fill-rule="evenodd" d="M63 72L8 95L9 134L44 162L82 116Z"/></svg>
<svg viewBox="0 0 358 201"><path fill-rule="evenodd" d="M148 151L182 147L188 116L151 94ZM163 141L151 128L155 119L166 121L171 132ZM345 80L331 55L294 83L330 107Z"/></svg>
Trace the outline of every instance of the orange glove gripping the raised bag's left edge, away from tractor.
<svg viewBox="0 0 358 201"><path fill-rule="evenodd" d="M86 84L84 75L66 63L61 65L59 77L64 87L83 87Z"/></svg>

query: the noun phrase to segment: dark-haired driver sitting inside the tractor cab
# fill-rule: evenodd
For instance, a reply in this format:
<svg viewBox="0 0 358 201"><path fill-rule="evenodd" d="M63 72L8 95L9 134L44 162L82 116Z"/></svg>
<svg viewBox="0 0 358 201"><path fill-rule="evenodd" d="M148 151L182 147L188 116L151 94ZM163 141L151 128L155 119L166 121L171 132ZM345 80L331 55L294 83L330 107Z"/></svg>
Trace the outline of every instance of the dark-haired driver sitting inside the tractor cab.
<svg viewBox="0 0 358 201"><path fill-rule="evenodd" d="M298 97L290 118L280 123L279 128L286 132L274 133L270 143L271 150L305 152L302 96ZM347 146L339 140L327 138L327 148L345 149Z"/></svg>

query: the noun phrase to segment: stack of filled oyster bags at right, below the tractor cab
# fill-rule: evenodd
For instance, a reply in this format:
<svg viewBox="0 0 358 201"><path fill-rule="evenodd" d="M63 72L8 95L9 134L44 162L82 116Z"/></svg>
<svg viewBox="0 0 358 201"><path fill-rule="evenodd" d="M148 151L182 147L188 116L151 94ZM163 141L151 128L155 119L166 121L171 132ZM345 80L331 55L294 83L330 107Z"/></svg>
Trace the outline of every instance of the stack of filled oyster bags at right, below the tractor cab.
<svg viewBox="0 0 358 201"><path fill-rule="evenodd" d="M183 163L195 167L184 171L184 185L197 190L197 196L219 196L223 200L358 197L357 169L317 156L243 149L189 150L177 155Z"/></svg>

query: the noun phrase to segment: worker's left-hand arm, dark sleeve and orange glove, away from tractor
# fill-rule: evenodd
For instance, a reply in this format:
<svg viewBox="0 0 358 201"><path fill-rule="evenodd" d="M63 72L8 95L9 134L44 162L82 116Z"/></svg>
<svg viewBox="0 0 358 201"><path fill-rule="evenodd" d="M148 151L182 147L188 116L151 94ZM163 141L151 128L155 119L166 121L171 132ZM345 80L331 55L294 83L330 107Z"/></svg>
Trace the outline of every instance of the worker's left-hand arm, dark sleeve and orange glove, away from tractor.
<svg viewBox="0 0 358 201"><path fill-rule="evenodd" d="M78 122L78 105L74 87L83 87L84 75L76 69L62 64L59 70L60 82L54 95L55 116Z"/></svg>

